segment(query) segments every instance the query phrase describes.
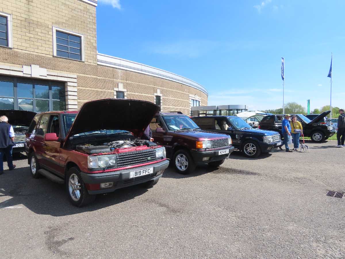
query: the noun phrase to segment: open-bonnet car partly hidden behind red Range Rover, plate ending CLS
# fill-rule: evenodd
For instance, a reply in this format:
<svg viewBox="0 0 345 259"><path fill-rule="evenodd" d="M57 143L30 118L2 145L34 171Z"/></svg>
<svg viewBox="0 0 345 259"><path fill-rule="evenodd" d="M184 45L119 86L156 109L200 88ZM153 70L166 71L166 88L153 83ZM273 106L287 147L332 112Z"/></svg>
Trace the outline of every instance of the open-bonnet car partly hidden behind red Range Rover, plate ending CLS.
<svg viewBox="0 0 345 259"><path fill-rule="evenodd" d="M0 110L0 116L5 115L14 131L13 153L24 152L26 147L25 132L36 115L36 112L22 110Z"/></svg>

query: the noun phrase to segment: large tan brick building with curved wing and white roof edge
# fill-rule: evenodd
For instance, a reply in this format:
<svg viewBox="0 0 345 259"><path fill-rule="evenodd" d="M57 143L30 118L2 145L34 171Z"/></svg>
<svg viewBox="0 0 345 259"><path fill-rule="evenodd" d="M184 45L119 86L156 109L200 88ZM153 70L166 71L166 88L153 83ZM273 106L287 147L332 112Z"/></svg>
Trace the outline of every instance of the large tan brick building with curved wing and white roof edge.
<svg viewBox="0 0 345 259"><path fill-rule="evenodd" d="M97 0L0 0L0 109L75 110L128 98L162 111L207 105L183 76L97 53Z"/></svg>

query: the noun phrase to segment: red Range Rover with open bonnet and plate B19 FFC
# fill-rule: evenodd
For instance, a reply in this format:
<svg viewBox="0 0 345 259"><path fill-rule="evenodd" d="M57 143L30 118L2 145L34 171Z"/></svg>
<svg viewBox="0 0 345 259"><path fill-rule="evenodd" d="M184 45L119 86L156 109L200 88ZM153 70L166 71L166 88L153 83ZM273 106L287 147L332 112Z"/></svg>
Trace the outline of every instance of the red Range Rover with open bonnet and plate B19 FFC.
<svg viewBox="0 0 345 259"><path fill-rule="evenodd" d="M95 194L155 185L169 161L164 147L140 136L158 109L146 101L104 99L84 103L79 112L37 114L26 142L32 177L65 184L76 206Z"/></svg>

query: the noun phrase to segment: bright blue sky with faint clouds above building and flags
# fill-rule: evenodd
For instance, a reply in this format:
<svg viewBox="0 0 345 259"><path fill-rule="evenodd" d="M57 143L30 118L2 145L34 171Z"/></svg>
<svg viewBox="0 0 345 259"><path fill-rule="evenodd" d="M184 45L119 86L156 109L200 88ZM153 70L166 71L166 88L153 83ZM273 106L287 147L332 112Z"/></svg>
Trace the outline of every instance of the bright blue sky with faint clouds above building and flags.
<svg viewBox="0 0 345 259"><path fill-rule="evenodd" d="M208 104L345 107L345 1L98 0L98 52L158 67L206 87Z"/></svg>

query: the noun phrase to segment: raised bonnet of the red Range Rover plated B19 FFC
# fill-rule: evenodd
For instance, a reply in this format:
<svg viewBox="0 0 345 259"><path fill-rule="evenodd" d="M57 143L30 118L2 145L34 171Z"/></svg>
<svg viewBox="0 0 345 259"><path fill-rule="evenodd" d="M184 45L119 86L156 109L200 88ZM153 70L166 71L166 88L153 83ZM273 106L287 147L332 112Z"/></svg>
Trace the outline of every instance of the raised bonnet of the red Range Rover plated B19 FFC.
<svg viewBox="0 0 345 259"><path fill-rule="evenodd" d="M84 103L67 134L96 130L128 130L140 137L159 107L147 101L103 99Z"/></svg>

